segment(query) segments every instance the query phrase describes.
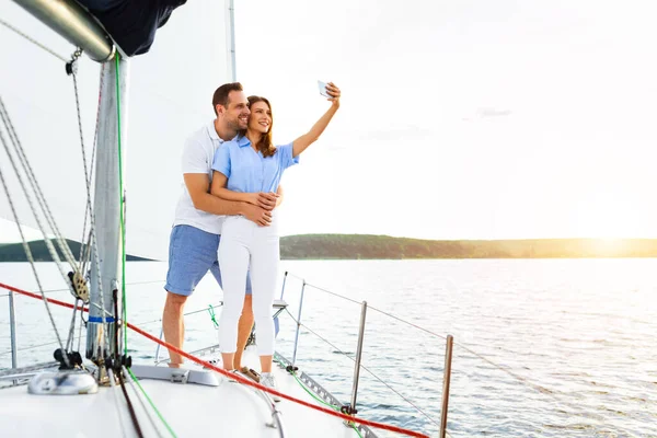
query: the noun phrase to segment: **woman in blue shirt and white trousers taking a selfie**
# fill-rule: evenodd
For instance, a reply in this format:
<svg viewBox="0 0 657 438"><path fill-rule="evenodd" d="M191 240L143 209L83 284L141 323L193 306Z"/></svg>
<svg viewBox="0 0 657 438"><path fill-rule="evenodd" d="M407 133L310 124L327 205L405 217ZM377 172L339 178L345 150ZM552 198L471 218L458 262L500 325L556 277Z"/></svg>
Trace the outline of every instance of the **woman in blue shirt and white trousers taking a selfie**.
<svg viewBox="0 0 657 438"><path fill-rule="evenodd" d="M341 92L332 82L326 85L331 107L301 137L288 145L272 143L272 105L264 97L250 96L249 125L237 139L224 142L212 162L212 195L240 200L273 210L283 172L299 162L299 154L324 131L339 107ZM274 321L272 304L278 275L279 235L277 215L272 224L258 227L242 216L229 216L223 222L219 244L219 265L223 274L223 310L219 321L219 345L223 368L234 370L238 320L244 301L246 269L251 269L253 315L257 326L261 383L276 389L272 374ZM274 396L275 401L279 401Z"/></svg>

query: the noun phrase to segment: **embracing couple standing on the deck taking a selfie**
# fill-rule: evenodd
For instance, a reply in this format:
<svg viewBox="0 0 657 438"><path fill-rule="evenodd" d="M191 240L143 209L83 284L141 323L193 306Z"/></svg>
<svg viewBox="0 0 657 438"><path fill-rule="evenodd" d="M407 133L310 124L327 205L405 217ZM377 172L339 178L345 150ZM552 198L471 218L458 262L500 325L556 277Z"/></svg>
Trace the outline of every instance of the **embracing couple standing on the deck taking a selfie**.
<svg viewBox="0 0 657 438"><path fill-rule="evenodd" d="M223 368L241 370L242 351L257 323L260 382L276 389L272 374L275 328L272 304L279 264L280 176L324 131L339 107L341 91L326 85L330 108L291 143L272 142L272 105L265 97L246 99L239 82L212 96L216 118L185 143L184 189L178 199L169 244L164 338L183 347L183 308L207 274L223 289L219 346ZM183 362L169 351L172 367ZM276 401L278 397L275 397Z"/></svg>

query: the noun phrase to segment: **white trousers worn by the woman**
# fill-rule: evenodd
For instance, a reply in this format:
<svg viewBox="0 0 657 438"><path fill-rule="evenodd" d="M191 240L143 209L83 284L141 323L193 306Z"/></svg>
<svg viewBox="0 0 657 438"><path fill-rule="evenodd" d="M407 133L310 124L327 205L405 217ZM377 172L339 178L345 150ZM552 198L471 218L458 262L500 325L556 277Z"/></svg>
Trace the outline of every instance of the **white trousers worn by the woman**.
<svg viewBox="0 0 657 438"><path fill-rule="evenodd" d="M219 243L219 267L223 280L223 310L219 318L221 353L235 353L238 321L244 306L246 270L251 269L253 318L260 356L274 355L272 304L280 258L276 215L269 227L258 227L243 216L226 218Z"/></svg>

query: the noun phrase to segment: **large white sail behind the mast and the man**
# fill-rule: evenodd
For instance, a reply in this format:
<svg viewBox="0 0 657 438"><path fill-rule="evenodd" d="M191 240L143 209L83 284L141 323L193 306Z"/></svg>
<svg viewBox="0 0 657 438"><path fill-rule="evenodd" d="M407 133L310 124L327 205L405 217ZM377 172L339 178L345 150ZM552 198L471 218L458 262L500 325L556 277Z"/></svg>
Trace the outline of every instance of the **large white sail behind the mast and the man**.
<svg viewBox="0 0 657 438"><path fill-rule="evenodd" d="M74 50L13 2L0 5L0 16L64 58ZM216 25L199 25L207 23L208 16ZM158 42L148 55L130 61L128 102L122 103L128 123L123 147L129 254L166 258L183 184L182 147L187 136L214 117L214 90L232 80L230 35L228 0L193 2L177 9L158 31ZM0 26L0 96L60 231L80 241L87 188L72 79L65 72L65 61L7 26ZM81 58L78 85L88 166L99 78L100 66ZM4 148L0 148L0 170L19 221L36 228ZM3 193L0 199L0 217L14 220Z"/></svg>

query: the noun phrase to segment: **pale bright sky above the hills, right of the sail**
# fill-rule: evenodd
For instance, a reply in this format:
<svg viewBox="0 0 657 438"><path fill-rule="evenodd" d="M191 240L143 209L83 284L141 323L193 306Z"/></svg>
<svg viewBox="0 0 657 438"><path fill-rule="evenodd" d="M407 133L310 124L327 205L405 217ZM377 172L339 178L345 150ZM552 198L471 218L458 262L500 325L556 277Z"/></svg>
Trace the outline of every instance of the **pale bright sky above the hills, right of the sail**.
<svg viewBox="0 0 657 438"><path fill-rule="evenodd" d="M327 108L318 80L343 92L284 175L283 234L657 238L657 7L618 4L235 1L275 142Z"/></svg>

